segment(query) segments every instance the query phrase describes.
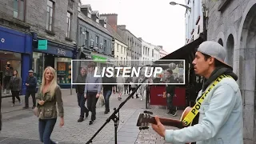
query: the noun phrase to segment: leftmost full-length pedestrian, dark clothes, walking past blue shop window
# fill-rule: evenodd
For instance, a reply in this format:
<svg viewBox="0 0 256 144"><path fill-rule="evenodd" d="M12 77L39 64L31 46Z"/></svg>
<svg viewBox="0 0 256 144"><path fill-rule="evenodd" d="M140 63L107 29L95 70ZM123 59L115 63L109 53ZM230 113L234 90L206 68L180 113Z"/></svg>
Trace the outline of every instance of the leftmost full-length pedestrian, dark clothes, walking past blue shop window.
<svg viewBox="0 0 256 144"><path fill-rule="evenodd" d="M13 73L13 76L10 78L10 90L13 100L11 106L15 105L15 98L17 98L19 104L22 105L22 100L19 98L19 93L22 90L22 78L19 76L17 70L14 70Z"/></svg>

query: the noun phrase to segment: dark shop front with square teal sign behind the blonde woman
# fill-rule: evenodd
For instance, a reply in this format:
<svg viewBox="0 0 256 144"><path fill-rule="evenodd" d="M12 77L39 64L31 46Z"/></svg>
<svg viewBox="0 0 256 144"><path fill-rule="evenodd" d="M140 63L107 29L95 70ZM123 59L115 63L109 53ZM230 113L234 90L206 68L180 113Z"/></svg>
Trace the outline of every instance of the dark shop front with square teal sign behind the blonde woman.
<svg viewBox="0 0 256 144"><path fill-rule="evenodd" d="M38 47L34 48L32 68L42 83L42 74L47 66L52 66L57 72L57 82L61 88L71 86L71 60L74 58L74 47L65 46L49 40L38 40Z"/></svg>

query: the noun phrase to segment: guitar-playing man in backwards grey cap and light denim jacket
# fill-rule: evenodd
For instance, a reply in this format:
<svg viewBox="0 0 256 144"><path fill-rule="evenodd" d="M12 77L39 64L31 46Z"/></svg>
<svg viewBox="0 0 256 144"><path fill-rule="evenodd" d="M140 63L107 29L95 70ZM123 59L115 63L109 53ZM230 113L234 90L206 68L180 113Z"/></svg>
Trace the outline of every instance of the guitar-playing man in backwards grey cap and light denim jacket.
<svg viewBox="0 0 256 144"><path fill-rule="evenodd" d="M198 124L180 130L166 130L156 117L157 125L152 124L152 127L166 142L243 143L242 96L236 82L238 76L224 62L225 57L226 50L218 42L206 41L198 47L192 63L195 74L205 80L197 102L203 94L206 95L198 110ZM228 77L221 78L223 74Z"/></svg>

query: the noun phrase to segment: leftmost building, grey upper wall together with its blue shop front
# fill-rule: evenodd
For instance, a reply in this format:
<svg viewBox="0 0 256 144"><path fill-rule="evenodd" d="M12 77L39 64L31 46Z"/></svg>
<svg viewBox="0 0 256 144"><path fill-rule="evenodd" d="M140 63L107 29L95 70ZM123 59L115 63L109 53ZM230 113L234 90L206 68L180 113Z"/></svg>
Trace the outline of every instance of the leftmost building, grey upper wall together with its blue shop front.
<svg viewBox="0 0 256 144"><path fill-rule="evenodd" d="M15 4L20 4L18 10ZM32 36L26 22L25 3L6 0L0 2L0 85L2 96L10 95L10 76L18 70L22 78L22 94L25 94L25 81L30 70Z"/></svg>

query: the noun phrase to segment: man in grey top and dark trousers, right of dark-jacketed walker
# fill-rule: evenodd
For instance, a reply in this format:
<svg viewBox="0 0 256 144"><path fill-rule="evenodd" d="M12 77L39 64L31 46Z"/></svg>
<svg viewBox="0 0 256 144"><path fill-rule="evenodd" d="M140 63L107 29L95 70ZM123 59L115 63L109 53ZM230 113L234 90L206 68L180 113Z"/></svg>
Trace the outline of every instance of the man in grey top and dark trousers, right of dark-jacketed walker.
<svg viewBox="0 0 256 144"><path fill-rule="evenodd" d="M87 98L87 106L91 112L89 125L92 125L96 119L96 104L102 93L102 78L94 77L95 66L94 62L90 62L89 73L86 76L85 98Z"/></svg>

